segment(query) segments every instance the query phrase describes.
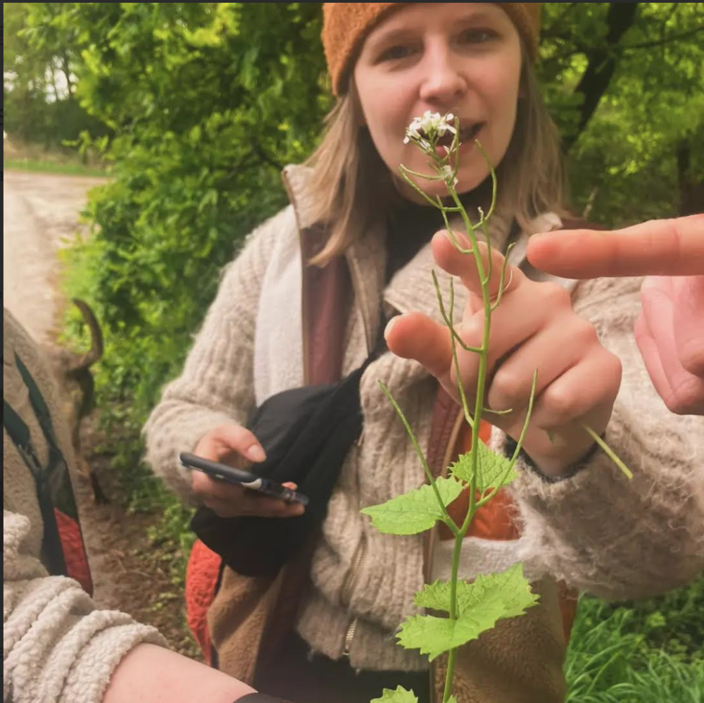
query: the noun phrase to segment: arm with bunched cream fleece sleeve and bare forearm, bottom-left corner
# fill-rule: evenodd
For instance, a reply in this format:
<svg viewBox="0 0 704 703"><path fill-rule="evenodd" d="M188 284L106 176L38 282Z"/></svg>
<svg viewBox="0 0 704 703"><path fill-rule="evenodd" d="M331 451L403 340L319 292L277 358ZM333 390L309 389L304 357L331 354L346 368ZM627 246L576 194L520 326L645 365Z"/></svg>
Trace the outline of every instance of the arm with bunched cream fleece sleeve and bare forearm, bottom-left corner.
<svg viewBox="0 0 704 703"><path fill-rule="evenodd" d="M158 632L96 609L49 576L23 515L3 512L3 699L15 703L232 703L251 686L165 649Z"/></svg>

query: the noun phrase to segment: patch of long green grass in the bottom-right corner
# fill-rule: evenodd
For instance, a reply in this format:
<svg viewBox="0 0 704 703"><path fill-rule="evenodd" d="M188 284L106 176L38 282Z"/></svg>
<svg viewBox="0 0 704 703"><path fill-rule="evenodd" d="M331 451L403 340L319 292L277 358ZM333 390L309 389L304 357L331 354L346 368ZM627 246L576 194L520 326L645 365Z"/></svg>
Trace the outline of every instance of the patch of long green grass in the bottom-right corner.
<svg viewBox="0 0 704 703"><path fill-rule="evenodd" d="M566 703L704 701L704 579L650 601L584 597L565 665Z"/></svg>

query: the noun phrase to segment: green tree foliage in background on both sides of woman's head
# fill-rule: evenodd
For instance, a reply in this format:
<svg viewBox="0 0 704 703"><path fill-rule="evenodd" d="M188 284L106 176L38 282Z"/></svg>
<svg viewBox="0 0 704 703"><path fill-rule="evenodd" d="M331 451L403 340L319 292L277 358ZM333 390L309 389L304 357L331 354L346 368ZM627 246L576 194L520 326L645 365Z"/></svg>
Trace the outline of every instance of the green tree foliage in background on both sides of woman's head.
<svg viewBox="0 0 704 703"><path fill-rule="evenodd" d="M108 330L103 389L141 420L220 268L284 203L279 170L320 132L321 4L6 3L4 17L9 131L111 135L113 180L68 285ZM614 225L701 207L703 23L703 3L544 5L539 77L578 212Z"/></svg>

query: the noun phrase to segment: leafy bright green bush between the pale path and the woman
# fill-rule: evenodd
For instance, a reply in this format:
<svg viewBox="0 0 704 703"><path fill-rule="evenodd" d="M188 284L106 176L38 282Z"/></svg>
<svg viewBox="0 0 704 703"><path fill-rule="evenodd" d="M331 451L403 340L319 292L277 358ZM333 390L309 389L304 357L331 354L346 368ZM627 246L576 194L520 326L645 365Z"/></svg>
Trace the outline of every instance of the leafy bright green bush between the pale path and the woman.
<svg viewBox="0 0 704 703"><path fill-rule="evenodd" d="M181 368L222 266L284 204L280 169L317 136L320 6L36 3L28 13L37 51L71 47L77 99L115 132L113 179L92 194L92 236L73 247L65 287L104 328L100 405L127 408L137 430ZM137 464L139 452L118 452Z"/></svg>

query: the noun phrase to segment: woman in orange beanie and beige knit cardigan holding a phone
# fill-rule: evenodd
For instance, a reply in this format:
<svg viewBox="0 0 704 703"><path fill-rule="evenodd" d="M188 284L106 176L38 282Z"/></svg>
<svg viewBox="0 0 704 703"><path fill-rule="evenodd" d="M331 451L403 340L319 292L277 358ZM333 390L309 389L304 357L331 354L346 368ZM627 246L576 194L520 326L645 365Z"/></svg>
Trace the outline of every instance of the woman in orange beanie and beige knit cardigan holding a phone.
<svg viewBox="0 0 704 703"><path fill-rule="evenodd" d="M381 535L359 512L425 480L379 380L436 471L468 442L457 406L441 390L452 391L447 330L445 343L429 352L417 335L435 339L439 330L433 256L465 276L463 334L477 333L470 272L442 235L431 244L442 220L398 178L401 163L427 170L425 157L403 143L408 124L427 110L460 118L467 146L458 191L474 208L487 206L489 170L471 145L482 142L501 187L494 247L517 242L491 340L489 406L515 410L491 416L496 427L487 428L486 440L496 449L508 451L517 437L539 370L523 471L512 492L476 521L461 575L526 561L541 602L462 648L458 701L562 700L571 604L559 580L633 597L685 583L703 564L704 491L694 471L704 433L661 413L643 382L628 335L637 287L584 285L570 298L564 287L530 280L519 268L524 238L563 224L558 142L532 77L538 27L532 3L325 4L323 42L339 97L325 138L305 168L285 170L291 206L256 230L227 269L184 372L146 427L151 464L191 502L224 517L294 518L301 506L189 473L175 457L192 450L222 461L263 460L258 438L244 428L253 409L278 392L345 377L375 348L384 320L410 313L386 330L396 354L365 368L363 435L341 466L310 559L292 560L275 578L222 572L208 611L219 665L256 678L264 692L361 701L401 684L427 700L435 688L427 661L398 647L394 633L415 612L413 596L425 580L447 575L446 535L437 535L436 545L422 535ZM447 279L441 275L445 290ZM613 352L626 364L621 393ZM471 358L463 365L471 388L476 369ZM631 483L575 429L577 418L605 433L633 466ZM460 502L453 504L458 519Z"/></svg>

